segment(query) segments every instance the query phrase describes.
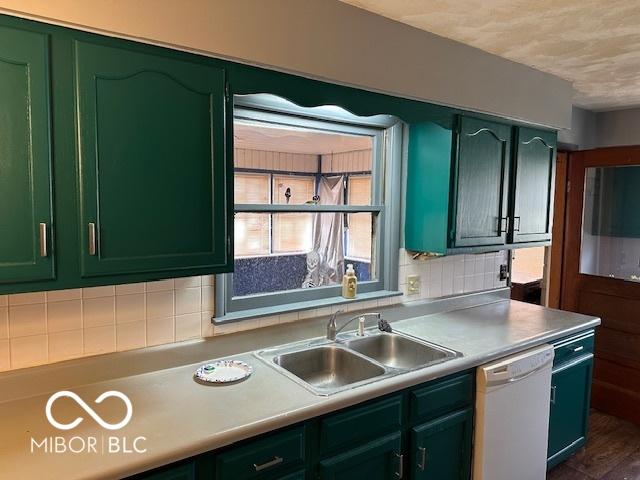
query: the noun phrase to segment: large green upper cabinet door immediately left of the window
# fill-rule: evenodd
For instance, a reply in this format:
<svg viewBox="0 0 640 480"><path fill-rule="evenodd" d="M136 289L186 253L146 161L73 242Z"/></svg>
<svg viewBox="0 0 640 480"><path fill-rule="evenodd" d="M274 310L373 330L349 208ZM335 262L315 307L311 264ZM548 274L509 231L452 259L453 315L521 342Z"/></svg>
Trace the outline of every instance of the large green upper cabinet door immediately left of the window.
<svg viewBox="0 0 640 480"><path fill-rule="evenodd" d="M227 270L224 70L78 40L74 62L82 275Z"/></svg>

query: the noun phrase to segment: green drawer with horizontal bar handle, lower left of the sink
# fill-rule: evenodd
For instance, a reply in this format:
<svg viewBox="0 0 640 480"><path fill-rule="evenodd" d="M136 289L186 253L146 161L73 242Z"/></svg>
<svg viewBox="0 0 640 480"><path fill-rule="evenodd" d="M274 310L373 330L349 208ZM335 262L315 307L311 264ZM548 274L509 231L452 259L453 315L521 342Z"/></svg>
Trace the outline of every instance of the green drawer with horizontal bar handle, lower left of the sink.
<svg viewBox="0 0 640 480"><path fill-rule="evenodd" d="M304 462L304 426L269 435L216 458L216 479L241 480L276 473Z"/></svg>

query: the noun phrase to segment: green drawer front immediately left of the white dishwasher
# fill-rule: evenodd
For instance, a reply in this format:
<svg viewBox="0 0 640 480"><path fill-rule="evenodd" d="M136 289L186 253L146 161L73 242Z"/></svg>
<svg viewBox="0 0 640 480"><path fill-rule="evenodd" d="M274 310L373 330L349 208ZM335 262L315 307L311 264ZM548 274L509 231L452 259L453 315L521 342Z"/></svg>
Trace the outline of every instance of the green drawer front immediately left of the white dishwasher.
<svg viewBox="0 0 640 480"><path fill-rule="evenodd" d="M473 402L470 373L441 380L411 392L411 421L428 420Z"/></svg>

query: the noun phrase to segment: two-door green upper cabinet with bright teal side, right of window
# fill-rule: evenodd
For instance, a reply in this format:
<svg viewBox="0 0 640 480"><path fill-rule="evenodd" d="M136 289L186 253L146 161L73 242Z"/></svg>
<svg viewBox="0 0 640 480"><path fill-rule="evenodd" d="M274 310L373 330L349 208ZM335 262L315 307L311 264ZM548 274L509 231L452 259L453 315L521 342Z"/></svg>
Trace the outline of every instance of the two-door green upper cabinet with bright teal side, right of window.
<svg viewBox="0 0 640 480"><path fill-rule="evenodd" d="M412 124L405 248L446 255L548 244L555 150L555 132L480 118L460 116L453 131Z"/></svg>

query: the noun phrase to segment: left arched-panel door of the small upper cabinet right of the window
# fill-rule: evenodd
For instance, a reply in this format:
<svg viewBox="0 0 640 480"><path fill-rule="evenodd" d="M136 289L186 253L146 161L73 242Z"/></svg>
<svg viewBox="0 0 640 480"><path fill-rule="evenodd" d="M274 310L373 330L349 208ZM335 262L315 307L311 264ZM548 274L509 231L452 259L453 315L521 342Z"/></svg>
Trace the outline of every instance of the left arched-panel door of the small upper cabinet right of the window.
<svg viewBox="0 0 640 480"><path fill-rule="evenodd" d="M452 247L504 245L511 127L461 117L452 209Z"/></svg>

